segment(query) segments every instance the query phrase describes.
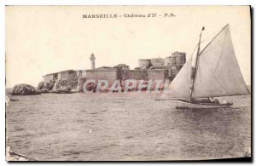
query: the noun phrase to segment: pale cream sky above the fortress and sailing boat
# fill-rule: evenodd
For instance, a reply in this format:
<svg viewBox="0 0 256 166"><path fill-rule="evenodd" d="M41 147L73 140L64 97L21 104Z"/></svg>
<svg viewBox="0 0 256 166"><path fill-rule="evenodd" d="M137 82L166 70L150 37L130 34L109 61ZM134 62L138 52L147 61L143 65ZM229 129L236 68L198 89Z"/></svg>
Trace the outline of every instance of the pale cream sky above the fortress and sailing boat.
<svg viewBox="0 0 256 166"><path fill-rule="evenodd" d="M121 17L92 19L83 14ZM189 58L202 26L201 48L227 24L242 76L251 83L247 6L7 6L5 21L6 87L37 86L48 73L90 69L92 53L96 67L125 63L131 69L138 66L138 59L165 58L175 51Z"/></svg>

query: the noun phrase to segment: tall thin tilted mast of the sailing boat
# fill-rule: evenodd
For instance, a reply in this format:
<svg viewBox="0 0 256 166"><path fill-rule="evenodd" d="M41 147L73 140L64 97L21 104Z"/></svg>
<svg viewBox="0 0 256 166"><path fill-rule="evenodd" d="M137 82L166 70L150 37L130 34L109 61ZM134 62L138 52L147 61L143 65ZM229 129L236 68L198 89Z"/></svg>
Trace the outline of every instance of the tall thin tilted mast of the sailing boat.
<svg viewBox="0 0 256 166"><path fill-rule="evenodd" d="M205 26L203 26L201 28L201 33L204 30L205 30ZM191 70L190 100L193 100L193 92L194 92L194 88L195 88L195 76L196 76L196 72L197 72L197 69L198 69L198 60L199 60L200 43L201 43L201 33L200 33L198 49L197 49L197 53L196 53L196 57L195 57L195 67L192 66L192 70Z"/></svg>

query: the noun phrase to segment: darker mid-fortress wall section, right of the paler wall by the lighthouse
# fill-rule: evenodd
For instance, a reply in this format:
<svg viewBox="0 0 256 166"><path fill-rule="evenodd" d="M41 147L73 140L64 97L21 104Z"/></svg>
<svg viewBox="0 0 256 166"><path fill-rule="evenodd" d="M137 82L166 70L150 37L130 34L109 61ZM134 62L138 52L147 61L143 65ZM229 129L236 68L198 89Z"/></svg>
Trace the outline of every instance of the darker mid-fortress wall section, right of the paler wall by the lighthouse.
<svg viewBox="0 0 256 166"><path fill-rule="evenodd" d="M148 80L148 72L146 70L122 70L120 74L121 74L120 78L122 80L126 80L126 79Z"/></svg>

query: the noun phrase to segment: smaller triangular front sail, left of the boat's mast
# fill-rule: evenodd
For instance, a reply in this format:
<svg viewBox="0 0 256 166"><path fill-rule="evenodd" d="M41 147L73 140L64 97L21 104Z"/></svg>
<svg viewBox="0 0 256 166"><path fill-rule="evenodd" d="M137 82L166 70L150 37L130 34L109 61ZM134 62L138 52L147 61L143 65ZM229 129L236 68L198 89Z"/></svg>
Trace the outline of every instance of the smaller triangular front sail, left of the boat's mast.
<svg viewBox="0 0 256 166"><path fill-rule="evenodd" d="M174 78L169 88L160 96L160 100L189 98L190 80L191 80L192 60L187 60L180 72Z"/></svg>

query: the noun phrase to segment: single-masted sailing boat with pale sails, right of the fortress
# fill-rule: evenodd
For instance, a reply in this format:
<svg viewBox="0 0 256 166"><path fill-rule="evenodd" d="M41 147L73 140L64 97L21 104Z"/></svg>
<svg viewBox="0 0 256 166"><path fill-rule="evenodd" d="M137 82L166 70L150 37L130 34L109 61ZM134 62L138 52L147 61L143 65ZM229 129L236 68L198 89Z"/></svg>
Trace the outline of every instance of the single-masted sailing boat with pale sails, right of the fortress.
<svg viewBox="0 0 256 166"><path fill-rule="evenodd" d="M204 27L201 29L204 31ZM218 32L201 50L201 34L195 55L188 60L160 100L178 100L177 108L218 108L232 102L213 97L250 94L241 75L230 36L230 26Z"/></svg>

